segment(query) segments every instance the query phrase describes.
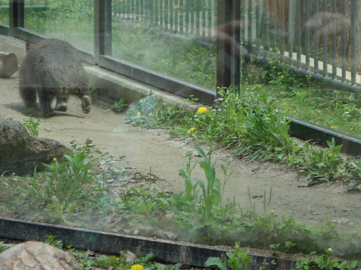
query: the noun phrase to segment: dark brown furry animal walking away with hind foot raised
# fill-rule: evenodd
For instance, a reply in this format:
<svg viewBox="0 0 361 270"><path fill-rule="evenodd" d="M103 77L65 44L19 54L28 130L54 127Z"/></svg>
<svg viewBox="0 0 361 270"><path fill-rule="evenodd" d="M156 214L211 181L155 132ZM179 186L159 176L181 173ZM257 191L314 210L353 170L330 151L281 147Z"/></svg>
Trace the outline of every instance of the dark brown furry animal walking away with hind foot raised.
<svg viewBox="0 0 361 270"><path fill-rule="evenodd" d="M59 39L26 44L26 56L19 70L19 91L27 107L36 105L37 95L44 116L54 115L51 102L55 98L54 110L65 112L69 95L82 100L83 113L90 112L88 79L78 52Z"/></svg>

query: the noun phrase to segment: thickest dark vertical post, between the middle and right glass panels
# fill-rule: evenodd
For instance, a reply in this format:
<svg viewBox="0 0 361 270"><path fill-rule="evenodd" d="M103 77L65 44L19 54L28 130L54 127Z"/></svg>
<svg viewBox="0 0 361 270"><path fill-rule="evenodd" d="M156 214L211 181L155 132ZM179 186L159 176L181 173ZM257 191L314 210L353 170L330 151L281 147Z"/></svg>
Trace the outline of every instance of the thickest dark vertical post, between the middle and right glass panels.
<svg viewBox="0 0 361 270"><path fill-rule="evenodd" d="M239 86L240 2L217 1L217 87Z"/></svg>

